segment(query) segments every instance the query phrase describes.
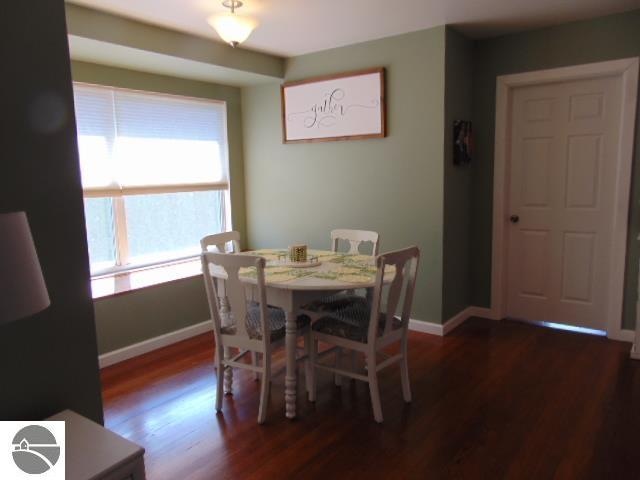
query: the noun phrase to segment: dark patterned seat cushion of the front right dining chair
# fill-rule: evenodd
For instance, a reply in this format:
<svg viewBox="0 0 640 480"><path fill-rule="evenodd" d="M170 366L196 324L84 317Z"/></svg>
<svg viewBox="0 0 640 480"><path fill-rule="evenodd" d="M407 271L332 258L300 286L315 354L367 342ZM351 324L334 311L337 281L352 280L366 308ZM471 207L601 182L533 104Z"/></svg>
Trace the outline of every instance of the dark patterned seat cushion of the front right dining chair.
<svg viewBox="0 0 640 480"><path fill-rule="evenodd" d="M325 317L318 319L311 328L320 333L333 335L335 337L346 338L355 342L366 343L369 334L369 320L371 310L369 307L350 306L332 312ZM391 329L397 330L402 327L399 318L393 317ZM384 332L385 314L380 313L378 320L378 336Z"/></svg>

